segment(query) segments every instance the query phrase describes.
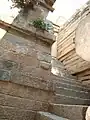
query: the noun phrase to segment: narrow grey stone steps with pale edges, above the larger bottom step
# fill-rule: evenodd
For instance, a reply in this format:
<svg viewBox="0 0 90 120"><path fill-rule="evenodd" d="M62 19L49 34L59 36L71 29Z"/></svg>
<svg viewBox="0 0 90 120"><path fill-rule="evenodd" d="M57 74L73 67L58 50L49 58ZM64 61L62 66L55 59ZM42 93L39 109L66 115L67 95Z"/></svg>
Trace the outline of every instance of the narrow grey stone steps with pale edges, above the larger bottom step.
<svg viewBox="0 0 90 120"><path fill-rule="evenodd" d="M55 103L70 105L90 105L90 90L73 80L56 83Z"/></svg>

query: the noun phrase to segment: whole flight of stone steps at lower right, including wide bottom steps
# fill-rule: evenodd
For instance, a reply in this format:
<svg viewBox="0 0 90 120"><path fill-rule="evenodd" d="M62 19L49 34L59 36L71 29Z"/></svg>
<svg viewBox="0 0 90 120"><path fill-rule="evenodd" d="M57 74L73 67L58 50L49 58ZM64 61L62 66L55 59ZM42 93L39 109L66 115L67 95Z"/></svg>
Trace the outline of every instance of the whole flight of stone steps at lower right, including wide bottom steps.
<svg viewBox="0 0 90 120"><path fill-rule="evenodd" d="M85 120L90 89L71 78L57 77L54 82L55 101L48 112L37 112L35 120Z"/></svg>

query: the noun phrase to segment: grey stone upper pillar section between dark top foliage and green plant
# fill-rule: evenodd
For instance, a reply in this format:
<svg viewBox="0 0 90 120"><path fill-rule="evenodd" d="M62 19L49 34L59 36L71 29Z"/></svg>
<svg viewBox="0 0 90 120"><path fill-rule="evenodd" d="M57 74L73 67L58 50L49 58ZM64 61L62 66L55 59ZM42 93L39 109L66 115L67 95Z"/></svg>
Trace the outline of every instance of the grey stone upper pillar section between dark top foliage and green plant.
<svg viewBox="0 0 90 120"><path fill-rule="evenodd" d="M44 0L43 0L43 3L45 3ZM35 5L34 9L28 10L27 13L23 13L23 11L21 10L19 15L13 21L13 25L18 26L18 27L27 28L27 25L32 20L35 20L37 18L46 19L48 12L49 12L49 10L41 5Z"/></svg>

